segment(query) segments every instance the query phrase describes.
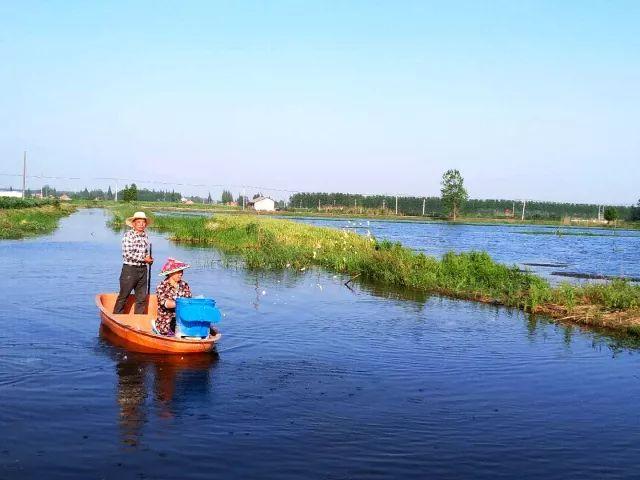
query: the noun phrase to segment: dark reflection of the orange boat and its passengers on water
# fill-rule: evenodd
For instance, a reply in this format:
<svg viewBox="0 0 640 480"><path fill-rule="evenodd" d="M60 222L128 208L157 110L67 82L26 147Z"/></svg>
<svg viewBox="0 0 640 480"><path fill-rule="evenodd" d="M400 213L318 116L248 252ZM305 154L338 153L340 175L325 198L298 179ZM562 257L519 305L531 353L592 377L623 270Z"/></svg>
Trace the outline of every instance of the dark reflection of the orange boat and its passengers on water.
<svg viewBox="0 0 640 480"><path fill-rule="evenodd" d="M210 392L211 371L218 361L216 352L191 355L137 353L128 350L128 342L104 326L100 327L100 336L105 342L103 351L115 361L124 444L136 446L140 443L149 415L173 418L180 395L206 396ZM153 400L152 405L147 402L148 398Z"/></svg>

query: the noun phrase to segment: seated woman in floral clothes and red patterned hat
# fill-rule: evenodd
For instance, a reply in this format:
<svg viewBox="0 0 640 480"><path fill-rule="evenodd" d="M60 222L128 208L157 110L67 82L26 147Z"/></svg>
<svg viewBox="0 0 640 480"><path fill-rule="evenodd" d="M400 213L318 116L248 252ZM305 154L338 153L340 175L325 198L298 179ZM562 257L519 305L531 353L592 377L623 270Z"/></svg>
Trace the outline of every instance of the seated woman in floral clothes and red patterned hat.
<svg viewBox="0 0 640 480"><path fill-rule="evenodd" d="M158 296L158 318L155 322L156 331L160 335L173 336L176 329L176 298L191 298L189 284L182 280L185 268L191 265L169 258L162 266L160 275L166 278L156 288Z"/></svg>

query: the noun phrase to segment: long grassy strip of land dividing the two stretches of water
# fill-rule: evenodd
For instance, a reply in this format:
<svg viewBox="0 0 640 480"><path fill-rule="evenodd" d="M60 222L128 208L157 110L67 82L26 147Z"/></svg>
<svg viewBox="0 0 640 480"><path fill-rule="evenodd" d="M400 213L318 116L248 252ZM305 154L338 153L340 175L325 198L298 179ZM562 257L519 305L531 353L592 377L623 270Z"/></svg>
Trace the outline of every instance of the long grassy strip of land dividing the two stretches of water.
<svg viewBox="0 0 640 480"><path fill-rule="evenodd" d="M113 209L112 225L122 226L134 210ZM553 287L515 265L493 261L486 252L449 252L438 260L351 231L258 215L158 215L154 221L152 228L169 233L172 240L213 246L240 257L249 269L318 267L379 285L519 308L640 336L640 286L624 280Z"/></svg>

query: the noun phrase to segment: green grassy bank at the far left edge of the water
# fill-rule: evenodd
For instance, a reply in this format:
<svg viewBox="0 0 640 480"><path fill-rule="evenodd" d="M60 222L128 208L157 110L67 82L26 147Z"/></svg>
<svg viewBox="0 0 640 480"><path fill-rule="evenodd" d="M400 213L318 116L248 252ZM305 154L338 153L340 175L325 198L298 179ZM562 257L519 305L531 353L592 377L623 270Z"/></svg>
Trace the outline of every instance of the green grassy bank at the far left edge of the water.
<svg viewBox="0 0 640 480"><path fill-rule="evenodd" d="M0 239L50 233L56 229L60 218L74 211L74 206L57 201L1 198Z"/></svg>

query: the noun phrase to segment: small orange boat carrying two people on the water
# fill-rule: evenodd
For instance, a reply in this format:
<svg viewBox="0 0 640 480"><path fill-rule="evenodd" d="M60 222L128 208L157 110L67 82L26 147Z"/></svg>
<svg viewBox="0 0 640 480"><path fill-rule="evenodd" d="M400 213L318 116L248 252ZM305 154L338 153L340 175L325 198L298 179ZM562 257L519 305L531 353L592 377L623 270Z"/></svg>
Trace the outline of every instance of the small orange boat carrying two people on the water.
<svg viewBox="0 0 640 480"><path fill-rule="evenodd" d="M126 342L131 350L142 353L204 353L211 352L222 334L211 327L209 336L200 338L165 337L154 333L151 322L158 316L158 299L149 296L147 313L133 313L134 297L129 295L125 313L113 313L118 298L117 293L100 293L96 295L96 306L100 310L102 326L112 334Z"/></svg>

